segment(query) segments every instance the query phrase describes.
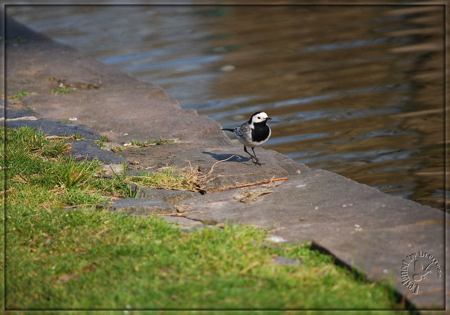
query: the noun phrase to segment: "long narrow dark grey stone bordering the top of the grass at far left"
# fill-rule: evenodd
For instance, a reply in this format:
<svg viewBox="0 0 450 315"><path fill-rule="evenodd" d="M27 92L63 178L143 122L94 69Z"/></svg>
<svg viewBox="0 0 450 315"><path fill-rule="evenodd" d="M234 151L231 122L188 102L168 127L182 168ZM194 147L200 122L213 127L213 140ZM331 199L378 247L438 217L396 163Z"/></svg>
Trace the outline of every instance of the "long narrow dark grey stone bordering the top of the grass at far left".
<svg viewBox="0 0 450 315"><path fill-rule="evenodd" d="M34 116L34 114L32 116ZM2 124L4 123L5 122L2 121ZM92 140L101 140L102 138L100 134L85 125L78 123L63 124L60 121L48 118L7 121L6 126L14 129L19 129L22 126L29 126L33 129L41 130L44 134L48 135L71 136L73 134L79 134L84 138Z"/></svg>

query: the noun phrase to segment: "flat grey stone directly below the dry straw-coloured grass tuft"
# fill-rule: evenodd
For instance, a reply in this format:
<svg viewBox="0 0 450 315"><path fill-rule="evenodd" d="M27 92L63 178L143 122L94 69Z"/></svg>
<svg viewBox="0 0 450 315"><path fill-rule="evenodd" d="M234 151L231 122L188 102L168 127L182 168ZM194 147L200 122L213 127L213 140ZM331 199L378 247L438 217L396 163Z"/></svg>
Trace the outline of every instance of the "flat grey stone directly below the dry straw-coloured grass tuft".
<svg viewBox="0 0 450 315"><path fill-rule="evenodd" d="M172 205L176 205L180 203L180 201L187 198L201 196L200 193L187 190L154 189L135 184L132 184L130 186L134 198L157 198Z"/></svg>

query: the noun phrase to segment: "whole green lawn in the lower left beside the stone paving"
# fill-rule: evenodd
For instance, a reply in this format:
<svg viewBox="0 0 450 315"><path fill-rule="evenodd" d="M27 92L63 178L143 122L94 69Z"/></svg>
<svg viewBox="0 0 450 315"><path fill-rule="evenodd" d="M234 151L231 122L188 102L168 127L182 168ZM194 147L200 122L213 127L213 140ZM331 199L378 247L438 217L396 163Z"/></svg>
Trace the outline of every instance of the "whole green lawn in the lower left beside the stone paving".
<svg viewBox="0 0 450 315"><path fill-rule="evenodd" d="M63 156L63 139L27 127L7 129L6 138L7 309L404 307L389 287L356 279L308 244L262 246L263 229L186 233L158 217L96 209L128 193L124 174L95 177L100 163L76 164ZM278 255L301 265L273 264Z"/></svg>

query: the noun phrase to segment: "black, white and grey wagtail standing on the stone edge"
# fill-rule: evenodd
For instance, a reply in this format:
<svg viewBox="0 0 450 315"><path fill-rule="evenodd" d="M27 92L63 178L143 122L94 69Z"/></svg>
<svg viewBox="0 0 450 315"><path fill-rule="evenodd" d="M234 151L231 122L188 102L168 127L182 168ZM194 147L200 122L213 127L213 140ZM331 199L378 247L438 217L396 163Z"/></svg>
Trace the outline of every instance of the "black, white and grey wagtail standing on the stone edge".
<svg viewBox="0 0 450 315"><path fill-rule="evenodd" d="M263 111L257 111L250 117L249 121L244 122L234 129L222 128L222 130L234 132L239 142L244 144L244 151L252 157L252 162L263 165L264 163L260 163L260 160L256 157L254 148L263 145L272 133L270 127L266 124L268 119L272 118L268 117ZM252 148L253 155L247 151L247 146Z"/></svg>

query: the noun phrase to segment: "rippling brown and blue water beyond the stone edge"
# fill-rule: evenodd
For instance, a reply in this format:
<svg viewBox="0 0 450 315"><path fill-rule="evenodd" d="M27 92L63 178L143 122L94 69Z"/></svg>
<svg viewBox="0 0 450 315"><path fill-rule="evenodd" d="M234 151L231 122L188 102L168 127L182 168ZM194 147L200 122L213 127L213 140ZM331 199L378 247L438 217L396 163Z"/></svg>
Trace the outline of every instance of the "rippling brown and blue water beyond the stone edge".
<svg viewBox="0 0 450 315"><path fill-rule="evenodd" d="M25 3L25 2L24 2ZM275 149L444 209L442 6L16 6L7 14Z"/></svg>

